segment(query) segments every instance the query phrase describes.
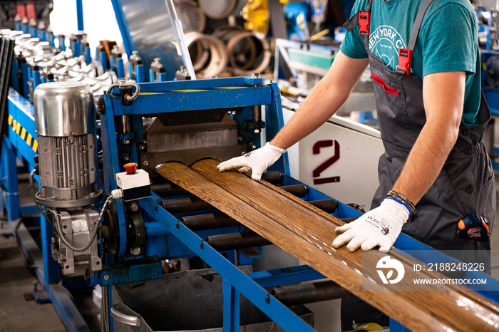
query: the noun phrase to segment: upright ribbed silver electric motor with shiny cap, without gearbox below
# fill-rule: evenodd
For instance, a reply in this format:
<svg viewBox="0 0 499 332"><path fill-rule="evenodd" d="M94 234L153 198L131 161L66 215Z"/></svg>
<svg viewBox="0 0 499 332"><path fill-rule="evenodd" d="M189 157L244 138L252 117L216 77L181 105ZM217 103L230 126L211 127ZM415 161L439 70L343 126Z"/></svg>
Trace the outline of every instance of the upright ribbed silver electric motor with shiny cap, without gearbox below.
<svg viewBox="0 0 499 332"><path fill-rule="evenodd" d="M34 92L40 192L46 207L98 202L93 93L83 82L43 83Z"/></svg>

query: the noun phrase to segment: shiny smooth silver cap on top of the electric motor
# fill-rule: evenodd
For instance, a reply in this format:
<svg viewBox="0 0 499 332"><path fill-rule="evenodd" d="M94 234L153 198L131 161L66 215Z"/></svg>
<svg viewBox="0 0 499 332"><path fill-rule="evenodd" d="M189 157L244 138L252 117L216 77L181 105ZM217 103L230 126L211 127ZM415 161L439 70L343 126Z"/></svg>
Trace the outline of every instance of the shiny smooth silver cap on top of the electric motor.
<svg viewBox="0 0 499 332"><path fill-rule="evenodd" d="M93 93L85 82L43 83L34 92L38 136L66 137L96 130Z"/></svg>

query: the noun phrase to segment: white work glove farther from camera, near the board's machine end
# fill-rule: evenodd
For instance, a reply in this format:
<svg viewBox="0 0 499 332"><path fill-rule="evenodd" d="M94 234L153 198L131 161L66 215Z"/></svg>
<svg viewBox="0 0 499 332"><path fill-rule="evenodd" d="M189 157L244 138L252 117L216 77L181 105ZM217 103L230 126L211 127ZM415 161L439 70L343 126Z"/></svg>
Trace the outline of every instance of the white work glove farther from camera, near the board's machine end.
<svg viewBox="0 0 499 332"><path fill-rule="evenodd" d="M226 162L220 162L217 169L220 172L226 170L232 170L233 168L240 168L239 172L249 173L252 171L251 178L255 181L259 181L262 178L262 173L267 170L267 167L274 164L281 155L286 152L286 150L280 147L274 147L269 142L267 142L264 147L260 147L252 152L247 152L241 157L235 157Z"/></svg>

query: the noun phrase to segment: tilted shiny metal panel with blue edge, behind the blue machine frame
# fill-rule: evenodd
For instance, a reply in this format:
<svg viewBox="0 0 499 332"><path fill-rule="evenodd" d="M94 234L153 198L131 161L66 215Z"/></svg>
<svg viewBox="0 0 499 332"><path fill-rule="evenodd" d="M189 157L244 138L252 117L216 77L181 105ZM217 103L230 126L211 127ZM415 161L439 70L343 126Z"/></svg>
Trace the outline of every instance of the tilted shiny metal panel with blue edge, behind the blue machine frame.
<svg viewBox="0 0 499 332"><path fill-rule="evenodd" d="M161 58L168 81L173 81L180 66L185 66L190 76L195 77L182 25L171 0L113 0L113 3L128 57L132 51L139 51L146 72L154 58Z"/></svg>

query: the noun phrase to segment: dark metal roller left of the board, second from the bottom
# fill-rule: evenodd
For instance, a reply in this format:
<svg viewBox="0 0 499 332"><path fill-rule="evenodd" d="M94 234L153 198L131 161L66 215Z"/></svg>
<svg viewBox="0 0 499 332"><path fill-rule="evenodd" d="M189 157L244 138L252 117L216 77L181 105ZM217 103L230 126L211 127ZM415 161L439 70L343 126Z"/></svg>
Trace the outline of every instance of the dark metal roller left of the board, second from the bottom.
<svg viewBox="0 0 499 332"><path fill-rule="evenodd" d="M272 244L272 242L255 232L212 235L211 237L207 237L206 243L210 244L217 251L237 250Z"/></svg>

